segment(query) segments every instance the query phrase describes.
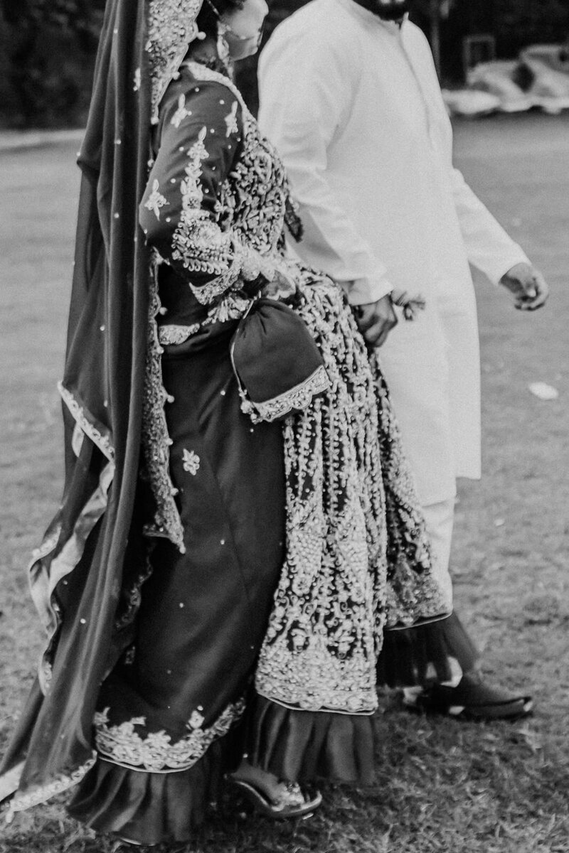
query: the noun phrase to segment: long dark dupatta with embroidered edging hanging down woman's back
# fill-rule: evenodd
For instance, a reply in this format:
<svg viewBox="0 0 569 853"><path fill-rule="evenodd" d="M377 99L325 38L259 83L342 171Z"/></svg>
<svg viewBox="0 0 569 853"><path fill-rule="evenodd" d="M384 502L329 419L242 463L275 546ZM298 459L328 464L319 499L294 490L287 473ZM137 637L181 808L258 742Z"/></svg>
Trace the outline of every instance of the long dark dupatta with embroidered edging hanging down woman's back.
<svg viewBox="0 0 569 853"><path fill-rule="evenodd" d="M102 679L129 641L148 574L138 470L154 283L138 225L151 125L195 38L200 0L107 0L84 142L63 380L61 508L33 554L48 643L0 768L11 813L74 785L95 761Z"/></svg>

